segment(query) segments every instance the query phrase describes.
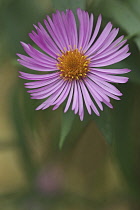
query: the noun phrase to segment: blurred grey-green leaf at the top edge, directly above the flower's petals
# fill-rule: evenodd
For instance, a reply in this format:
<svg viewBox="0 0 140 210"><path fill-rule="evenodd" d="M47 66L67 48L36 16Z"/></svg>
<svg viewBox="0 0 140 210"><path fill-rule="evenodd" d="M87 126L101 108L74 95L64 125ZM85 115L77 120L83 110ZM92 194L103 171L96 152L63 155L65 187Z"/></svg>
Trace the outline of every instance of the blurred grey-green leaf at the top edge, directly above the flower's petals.
<svg viewBox="0 0 140 210"><path fill-rule="evenodd" d="M55 10L71 9L75 12L77 8L85 8L85 0L52 0Z"/></svg>

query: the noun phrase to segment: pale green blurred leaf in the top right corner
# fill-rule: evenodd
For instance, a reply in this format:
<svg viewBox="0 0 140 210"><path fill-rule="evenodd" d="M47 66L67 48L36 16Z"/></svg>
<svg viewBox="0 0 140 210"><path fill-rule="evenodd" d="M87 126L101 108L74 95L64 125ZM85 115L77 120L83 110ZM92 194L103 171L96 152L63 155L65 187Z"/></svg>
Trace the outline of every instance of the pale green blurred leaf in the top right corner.
<svg viewBox="0 0 140 210"><path fill-rule="evenodd" d="M132 2L131 4L134 5ZM102 0L100 12L106 17L113 19L129 36L135 35L135 42L140 48L140 16L137 15L129 3L120 0ZM135 7L139 8L139 5Z"/></svg>

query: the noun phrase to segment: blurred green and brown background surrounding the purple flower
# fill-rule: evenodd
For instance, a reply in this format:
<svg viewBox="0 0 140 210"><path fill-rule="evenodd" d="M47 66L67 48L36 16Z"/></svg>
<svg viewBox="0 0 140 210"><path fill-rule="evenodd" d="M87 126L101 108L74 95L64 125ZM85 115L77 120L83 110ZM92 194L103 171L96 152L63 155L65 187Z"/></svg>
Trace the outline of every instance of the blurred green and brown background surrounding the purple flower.
<svg viewBox="0 0 140 210"><path fill-rule="evenodd" d="M114 109L80 122L71 112L34 111L18 78L20 41L56 9L82 8L128 38L130 68ZM0 209L140 209L140 0L0 0ZM60 149L61 147L61 149Z"/></svg>

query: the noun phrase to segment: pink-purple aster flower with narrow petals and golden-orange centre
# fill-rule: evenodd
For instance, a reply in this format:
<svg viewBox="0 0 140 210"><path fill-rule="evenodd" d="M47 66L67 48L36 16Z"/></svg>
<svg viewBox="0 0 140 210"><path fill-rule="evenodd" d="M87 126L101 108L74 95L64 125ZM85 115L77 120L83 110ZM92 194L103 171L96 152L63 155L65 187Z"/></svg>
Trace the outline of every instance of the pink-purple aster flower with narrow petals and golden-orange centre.
<svg viewBox="0 0 140 210"><path fill-rule="evenodd" d="M111 22L99 32L101 15L96 24L93 14L77 9L77 16L78 26L71 10L56 11L52 19L47 16L45 26L38 23L34 25L36 32L29 34L41 51L21 42L28 56L17 55L21 65L38 71L38 74L20 72L21 78L31 80L25 83L31 98L44 99L36 110L49 106L55 110L66 101L64 112L71 106L83 120L84 106L89 114L93 111L99 115L103 103L112 108L110 98L120 100L122 93L111 83L126 83L127 77L116 74L130 70L105 67L127 58L130 53L124 36L116 39L119 29L113 29Z"/></svg>

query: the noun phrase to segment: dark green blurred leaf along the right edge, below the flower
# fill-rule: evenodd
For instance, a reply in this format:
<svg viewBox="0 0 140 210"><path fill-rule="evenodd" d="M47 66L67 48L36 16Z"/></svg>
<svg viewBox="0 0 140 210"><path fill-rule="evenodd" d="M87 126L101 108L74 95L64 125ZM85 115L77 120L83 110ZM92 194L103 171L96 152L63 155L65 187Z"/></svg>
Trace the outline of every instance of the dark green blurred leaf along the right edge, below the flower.
<svg viewBox="0 0 140 210"><path fill-rule="evenodd" d="M121 91L124 96L118 104L115 104L112 121L115 137L114 149L129 186L139 194L140 85L128 82L126 86L122 86Z"/></svg>

